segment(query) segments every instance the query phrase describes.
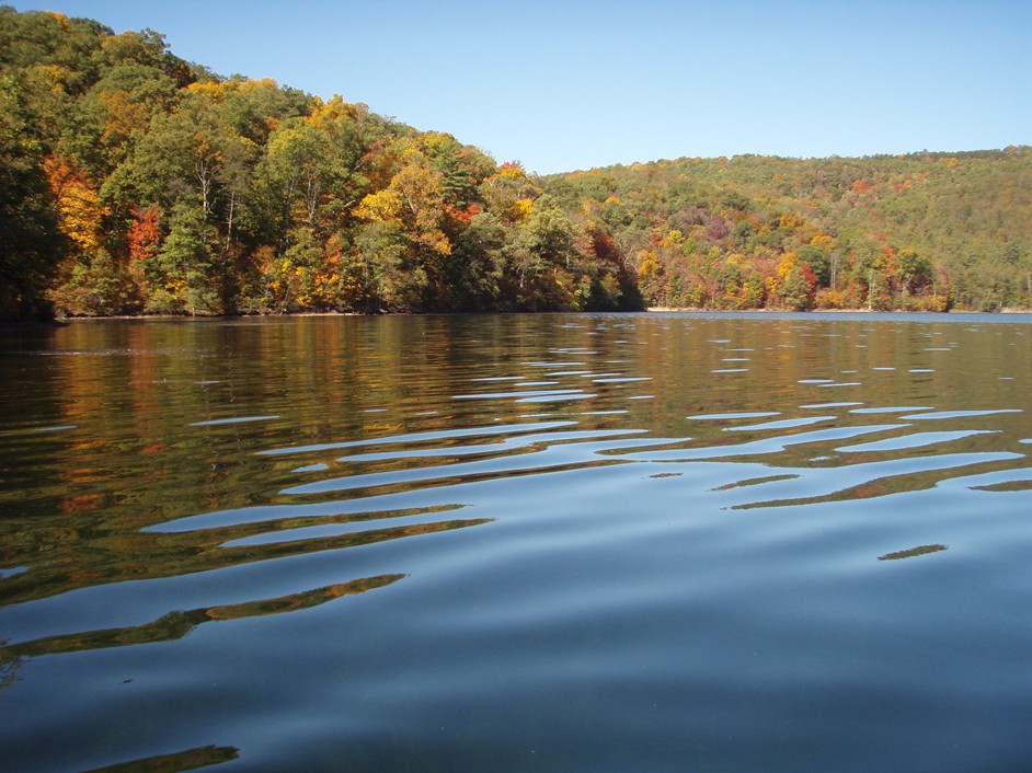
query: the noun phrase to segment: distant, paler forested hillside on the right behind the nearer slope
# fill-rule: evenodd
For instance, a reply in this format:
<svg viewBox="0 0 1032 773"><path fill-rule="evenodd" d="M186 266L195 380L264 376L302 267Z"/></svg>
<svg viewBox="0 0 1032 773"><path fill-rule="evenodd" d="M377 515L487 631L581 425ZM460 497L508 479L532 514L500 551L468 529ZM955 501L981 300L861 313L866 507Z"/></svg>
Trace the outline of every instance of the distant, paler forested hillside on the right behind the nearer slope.
<svg viewBox="0 0 1032 773"><path fill-rule="evenodd" d="M1032 307L1032 149L679 159L543 181L650 305Z"/></svg>

